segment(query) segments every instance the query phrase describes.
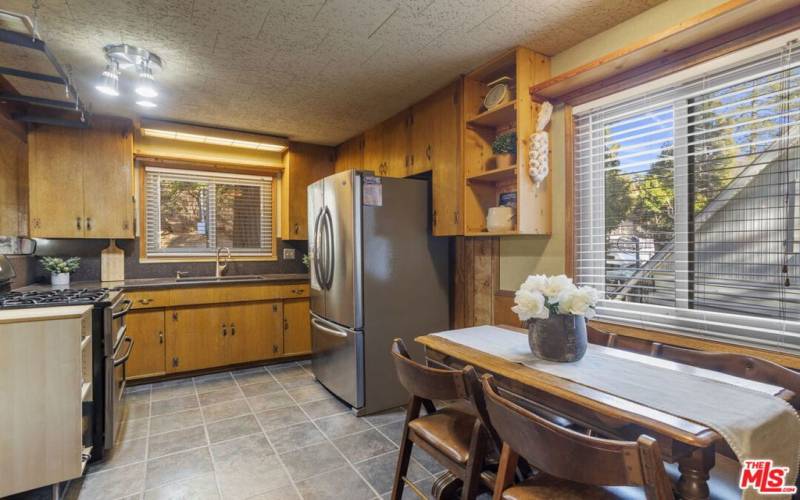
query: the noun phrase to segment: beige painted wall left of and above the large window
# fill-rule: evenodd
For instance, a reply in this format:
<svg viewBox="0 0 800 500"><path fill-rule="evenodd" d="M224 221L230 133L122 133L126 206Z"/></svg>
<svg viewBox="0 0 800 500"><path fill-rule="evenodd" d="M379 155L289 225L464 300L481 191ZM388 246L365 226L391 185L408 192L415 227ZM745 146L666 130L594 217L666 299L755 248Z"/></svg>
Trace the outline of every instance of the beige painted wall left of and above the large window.
<svg viewBox="0 0 800 500"><path fill-rule="evenodd" d="M667 0L609 30L553 56L553 76L706 11L725 0ZM550 125L553 234L500 240L500 288L513 290L529 274L564 272L564 114L556 108Z"/></svg>

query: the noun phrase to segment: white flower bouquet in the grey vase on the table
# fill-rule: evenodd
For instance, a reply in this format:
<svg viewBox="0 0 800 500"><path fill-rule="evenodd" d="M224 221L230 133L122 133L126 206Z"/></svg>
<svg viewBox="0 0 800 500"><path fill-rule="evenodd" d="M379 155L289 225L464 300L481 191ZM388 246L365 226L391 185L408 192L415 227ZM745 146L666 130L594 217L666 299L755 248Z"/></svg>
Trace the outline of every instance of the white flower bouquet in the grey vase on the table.
<svg viewBox="0 0 800 500"><path fill-rule="evenodd" d="M511 308L521 321L547 319L551 314L571 314L592 319L599 299L592 287L577 287L566 275L528 276L514 295Z"/></svg>

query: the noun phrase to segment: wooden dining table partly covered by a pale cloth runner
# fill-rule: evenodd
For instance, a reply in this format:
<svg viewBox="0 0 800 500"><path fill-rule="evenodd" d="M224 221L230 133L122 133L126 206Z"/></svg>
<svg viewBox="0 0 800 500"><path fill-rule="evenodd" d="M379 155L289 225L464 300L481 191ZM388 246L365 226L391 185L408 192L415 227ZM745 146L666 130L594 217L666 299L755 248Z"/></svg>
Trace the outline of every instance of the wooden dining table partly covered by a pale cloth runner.
<svg viewBox="0 0 800 500"><path fill-rule="evenodd" d="M527 333L511 326L501 328ZM472 365L482 374L492 374L501 394L532 411L566 418L609 438L635 441L642 434L653 437L664 460L678 464L678 494L684 499L709 498L708 479L715 463L715 447L724 442L713 429L442 337L424 335L416 341L425 347L429 366L461 369ZM642 359L641 355L625 351L620 355ZM675 369L681 366L691 370L675 363ZM783 389L775 396L790 401L794 393Z"/></svg>

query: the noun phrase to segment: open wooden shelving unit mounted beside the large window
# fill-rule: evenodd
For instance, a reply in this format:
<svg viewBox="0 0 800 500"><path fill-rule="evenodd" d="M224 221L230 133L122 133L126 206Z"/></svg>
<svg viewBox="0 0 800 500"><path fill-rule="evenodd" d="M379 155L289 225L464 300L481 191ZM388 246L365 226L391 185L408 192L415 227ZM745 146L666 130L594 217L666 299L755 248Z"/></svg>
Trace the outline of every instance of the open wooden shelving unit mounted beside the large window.
<svg viewBox="0 0 800 500"><path fill-rule="evenodd" d="M550 60L524 47L514 48L464 77L464 214L465 236L548 235L550 180L539 187L528 175L528 138L534 131L539 103L528 89L550 76ZM492 109L483 107L488 84L501 77L513 80L509 100ZM504 132L517 134L515 165L496 168L492 142ZM513 202L512 200L516 200ZM510 231L488 232L489 208L514 208Z"/></svg>

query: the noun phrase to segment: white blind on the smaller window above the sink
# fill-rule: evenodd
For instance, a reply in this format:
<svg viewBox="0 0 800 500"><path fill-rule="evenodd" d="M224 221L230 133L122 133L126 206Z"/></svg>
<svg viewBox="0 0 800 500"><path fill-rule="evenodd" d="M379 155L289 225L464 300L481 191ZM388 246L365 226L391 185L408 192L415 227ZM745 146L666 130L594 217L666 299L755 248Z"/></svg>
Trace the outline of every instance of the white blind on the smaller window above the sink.
<svg viewBox="0 0 800 500"><path fill-rule="evenodd" d="M145 168L150 256L273 254L272 178Z"/></svg>

